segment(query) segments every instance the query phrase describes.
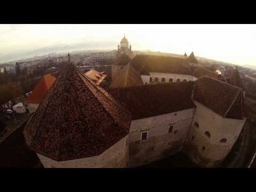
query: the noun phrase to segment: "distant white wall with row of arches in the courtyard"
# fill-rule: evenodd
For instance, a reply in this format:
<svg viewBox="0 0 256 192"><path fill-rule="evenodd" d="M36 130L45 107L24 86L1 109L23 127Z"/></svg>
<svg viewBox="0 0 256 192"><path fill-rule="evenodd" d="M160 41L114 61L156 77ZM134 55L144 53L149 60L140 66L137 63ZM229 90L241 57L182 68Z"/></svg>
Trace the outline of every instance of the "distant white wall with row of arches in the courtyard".
<svg viewBox="0 0 256 192"><path fill-rule="evenodd" d="M172 82L177 82L177 79L180 79L182 82L184 79L187 81L195 81L194 77L191 75L181 75L181 74L168 74L168 73L150 73L152 81L157 77L158 82L161 82L162 78L165 78L165 82L169 82L169 79L172 78Z"/></svg>

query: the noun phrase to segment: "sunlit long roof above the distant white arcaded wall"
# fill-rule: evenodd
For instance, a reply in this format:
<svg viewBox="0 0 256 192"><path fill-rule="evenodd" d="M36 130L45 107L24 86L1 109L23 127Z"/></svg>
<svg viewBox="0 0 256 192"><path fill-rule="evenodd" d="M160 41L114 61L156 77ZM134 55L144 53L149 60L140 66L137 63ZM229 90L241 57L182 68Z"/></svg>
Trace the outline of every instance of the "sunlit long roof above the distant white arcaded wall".
<svg viewBox="0 0 256 192"><path fill-rule="evenodd" d="M191 75L192 72L185 59L159 55L136 55L131 61L131 65L137 71L140 68L145 68L149 73Z"/></svg>

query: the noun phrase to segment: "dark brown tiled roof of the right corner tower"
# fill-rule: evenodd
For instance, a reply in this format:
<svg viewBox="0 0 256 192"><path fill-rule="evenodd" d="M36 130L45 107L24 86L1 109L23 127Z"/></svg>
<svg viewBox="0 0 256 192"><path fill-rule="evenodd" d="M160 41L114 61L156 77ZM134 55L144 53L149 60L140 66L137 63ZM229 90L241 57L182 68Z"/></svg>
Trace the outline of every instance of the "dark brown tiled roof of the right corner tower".
<svg viewBox="0 0 256 192"><path fill-rule="evenodd" d="M210 108L215 113L229 118L242 119L241 89L210 77L202 77L195 82L193 99Z"/></svg>

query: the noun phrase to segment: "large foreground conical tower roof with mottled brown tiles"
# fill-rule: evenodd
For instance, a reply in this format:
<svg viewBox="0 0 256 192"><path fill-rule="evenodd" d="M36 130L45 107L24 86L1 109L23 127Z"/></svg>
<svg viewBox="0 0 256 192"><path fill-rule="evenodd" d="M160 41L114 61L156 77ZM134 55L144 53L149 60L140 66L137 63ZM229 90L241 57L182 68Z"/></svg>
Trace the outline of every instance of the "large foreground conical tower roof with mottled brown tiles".
<svg viewBox="0 0 256 192"><path fill-rule="evenodd" d="M129 133L131 115L69 63L23 133L27 146L56 161L101 154Z"/></svg>

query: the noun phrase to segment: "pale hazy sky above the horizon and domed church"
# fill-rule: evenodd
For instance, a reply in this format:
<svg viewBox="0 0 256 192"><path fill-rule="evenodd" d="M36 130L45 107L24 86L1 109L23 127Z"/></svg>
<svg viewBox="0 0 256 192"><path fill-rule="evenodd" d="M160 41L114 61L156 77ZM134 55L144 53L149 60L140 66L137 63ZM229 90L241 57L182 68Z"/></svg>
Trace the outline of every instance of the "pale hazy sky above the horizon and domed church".
<svg viewBox="0 0 256 192"><path fill-rule="evenodd" d="M133 50L194 51L199 57L256 65L256 25L0 25L0 56L62 43L117 45L124 33Z"/></svg>

